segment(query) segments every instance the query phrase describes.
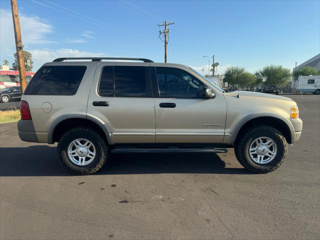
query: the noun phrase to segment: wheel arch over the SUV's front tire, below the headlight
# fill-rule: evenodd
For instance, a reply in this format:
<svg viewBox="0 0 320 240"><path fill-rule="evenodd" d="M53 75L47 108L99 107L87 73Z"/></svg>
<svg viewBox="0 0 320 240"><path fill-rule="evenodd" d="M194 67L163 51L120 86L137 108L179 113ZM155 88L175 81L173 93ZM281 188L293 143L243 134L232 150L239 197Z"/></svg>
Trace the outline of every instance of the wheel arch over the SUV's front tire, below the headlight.
<svg viewBox="0 0 320 240"><path fill-rule="evenodd" d="M269 125L280 131L285 137L286 141L291 144L294 142L294 129L291 122L287 118L279 118L276 116L255 116L245 119L238 124L233 137L230 139L232 143L236 142L243 132L254 125Z"/></svg>

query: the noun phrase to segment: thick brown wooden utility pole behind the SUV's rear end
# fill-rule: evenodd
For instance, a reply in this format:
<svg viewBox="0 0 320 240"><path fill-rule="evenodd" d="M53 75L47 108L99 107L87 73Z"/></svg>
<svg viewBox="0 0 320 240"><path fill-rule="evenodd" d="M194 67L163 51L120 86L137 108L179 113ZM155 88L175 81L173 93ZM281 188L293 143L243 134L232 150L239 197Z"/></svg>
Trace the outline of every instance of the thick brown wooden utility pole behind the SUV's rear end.
<svg viewBox="0 0 320 240"><path fill-rule="evenodd" d="M24 92L26 82L25 82L25 67L24 67L24 58L23 58L23 45L21 41L21 31L20 31L20 22L18 9L16 5L16 0L11 0L11 9L12 9L12 19L13 19L13 28L14 28L14 38L15 38L15 48L18 60L19 67L19 78L20 78L20 87L21 93Z"/></svg>

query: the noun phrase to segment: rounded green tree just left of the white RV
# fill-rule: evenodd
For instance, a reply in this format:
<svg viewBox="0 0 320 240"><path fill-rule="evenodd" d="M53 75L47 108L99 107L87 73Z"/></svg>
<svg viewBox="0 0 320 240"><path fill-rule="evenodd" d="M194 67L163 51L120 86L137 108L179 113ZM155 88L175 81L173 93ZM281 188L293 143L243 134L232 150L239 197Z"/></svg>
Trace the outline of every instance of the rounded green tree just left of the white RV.
<svg viewBox="0 0 320 240"><path fill-rule="evenodd" d="M282 65L266 65L257 71L259 79L263 79L265 84L274 84L277 87L284 86L291 77L291 71Z"/></svg>

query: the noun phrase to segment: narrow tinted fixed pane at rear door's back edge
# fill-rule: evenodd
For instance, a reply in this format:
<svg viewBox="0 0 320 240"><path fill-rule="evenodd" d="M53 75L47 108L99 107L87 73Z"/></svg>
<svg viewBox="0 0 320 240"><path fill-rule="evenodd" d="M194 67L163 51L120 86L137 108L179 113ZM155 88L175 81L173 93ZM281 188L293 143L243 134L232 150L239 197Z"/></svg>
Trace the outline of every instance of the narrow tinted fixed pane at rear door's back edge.
<svg viewBox="0 0 320 240"><path fill-rule="evenodd" d="M104 66L102 68L98 92L101 96L113 96L113 66Z"/></svg>

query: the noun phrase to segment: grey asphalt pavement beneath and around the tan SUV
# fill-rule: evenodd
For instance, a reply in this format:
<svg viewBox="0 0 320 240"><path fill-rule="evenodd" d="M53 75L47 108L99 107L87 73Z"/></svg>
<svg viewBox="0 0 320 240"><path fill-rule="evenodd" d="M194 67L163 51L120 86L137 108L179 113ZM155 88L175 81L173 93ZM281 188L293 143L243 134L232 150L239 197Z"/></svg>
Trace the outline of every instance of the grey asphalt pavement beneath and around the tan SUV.
<svg viewBox="0 0 320 240"><path fill-rule="evenodd" d="M228 153L117 153L73 176L55 145L0 124L0 239L319 239L320 96L295 95L303 132L280 168Z"/></svg>

